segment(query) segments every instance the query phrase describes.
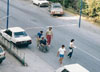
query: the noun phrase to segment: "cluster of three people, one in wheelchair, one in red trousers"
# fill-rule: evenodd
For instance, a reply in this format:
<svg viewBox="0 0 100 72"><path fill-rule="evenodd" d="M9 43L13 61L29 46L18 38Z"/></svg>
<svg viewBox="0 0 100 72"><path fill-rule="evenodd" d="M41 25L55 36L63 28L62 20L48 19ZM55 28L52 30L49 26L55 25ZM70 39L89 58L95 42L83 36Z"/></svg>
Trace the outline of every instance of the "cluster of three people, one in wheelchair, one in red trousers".
<svg viewBox="0 0 100 72"><path fill-rule="evenodd" d="M46 39L43 34L43 31L37 33L37 47L39 47L39 45L41 45L44 48L47 48L47 46L50 47L51 39L53 37L52 27L49 27L45 35L46 35Z"/></svg>

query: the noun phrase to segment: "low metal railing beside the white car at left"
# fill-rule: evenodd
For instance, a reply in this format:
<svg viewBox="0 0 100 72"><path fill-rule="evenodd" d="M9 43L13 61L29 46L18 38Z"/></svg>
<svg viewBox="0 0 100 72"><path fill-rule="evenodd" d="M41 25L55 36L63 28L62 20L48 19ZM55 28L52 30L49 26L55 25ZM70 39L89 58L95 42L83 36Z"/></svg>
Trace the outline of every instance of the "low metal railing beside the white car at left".
<svg viewBox="0 0 100 72"><path fill-rule="evenodd" d="M0 44L6 48L6 50L18 59L22 65L27 66L25 62L25 53L22 53L12 42L8 41L0 33Z"/></svg>

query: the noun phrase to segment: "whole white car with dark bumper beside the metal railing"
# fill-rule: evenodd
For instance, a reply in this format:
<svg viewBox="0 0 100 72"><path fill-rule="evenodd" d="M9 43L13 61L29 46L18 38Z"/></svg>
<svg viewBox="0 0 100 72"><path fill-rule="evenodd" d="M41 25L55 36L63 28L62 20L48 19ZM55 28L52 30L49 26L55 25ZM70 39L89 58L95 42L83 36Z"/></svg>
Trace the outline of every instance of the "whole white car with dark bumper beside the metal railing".
<svg viewBox="0 0 100 72"><path fill-rule="evenodd" d="M16 46L28 46L32 43L32 39L26 34L25 30L20 27L12 27L5 30L1 30L0 33L8 41L12 42Z"/></svg>

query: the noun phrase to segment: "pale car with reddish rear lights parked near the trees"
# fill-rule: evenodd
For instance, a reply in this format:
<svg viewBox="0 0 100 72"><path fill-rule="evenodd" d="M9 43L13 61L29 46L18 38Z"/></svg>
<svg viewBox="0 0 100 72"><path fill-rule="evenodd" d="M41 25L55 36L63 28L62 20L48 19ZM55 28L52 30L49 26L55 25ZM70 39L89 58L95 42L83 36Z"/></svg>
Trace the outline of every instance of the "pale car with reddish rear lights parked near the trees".
<svg viewBox="0 0 100 72"><path fill-rule="evenodd" d="M51 15L63 15L64 10L60 3L51 3L49 6L49 12Z"/></svg>

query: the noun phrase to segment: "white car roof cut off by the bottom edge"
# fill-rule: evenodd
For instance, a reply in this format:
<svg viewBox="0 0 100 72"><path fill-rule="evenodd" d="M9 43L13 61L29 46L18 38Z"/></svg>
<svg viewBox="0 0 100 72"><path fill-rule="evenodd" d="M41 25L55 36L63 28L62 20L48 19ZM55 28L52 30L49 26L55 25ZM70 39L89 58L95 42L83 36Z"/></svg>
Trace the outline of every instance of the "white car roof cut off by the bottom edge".
<svg viewBox="0 0 100 72"><path fill-rule="evenodd" d="M56 70L56 72L89 72L89 71L80 64L76 63L60 67L59 69Z"/></svg>

